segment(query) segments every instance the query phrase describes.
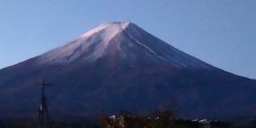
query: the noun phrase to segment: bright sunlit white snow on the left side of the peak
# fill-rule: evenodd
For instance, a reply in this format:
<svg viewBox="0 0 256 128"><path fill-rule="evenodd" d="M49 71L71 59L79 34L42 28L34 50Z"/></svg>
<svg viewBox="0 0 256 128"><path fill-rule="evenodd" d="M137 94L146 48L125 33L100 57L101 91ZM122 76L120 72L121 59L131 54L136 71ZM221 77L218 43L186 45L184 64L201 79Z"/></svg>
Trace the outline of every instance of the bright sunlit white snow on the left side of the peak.
<svg viewBox="0 0 256 128"><path fill-rule="evenodd" d="M77 59L84 50L88 49L90 45L99 43L96 45L96 50L91 55L88 55L85 59L87 61L94 61L98 57L102 56L105 49L108 48L109 41L119 32L122 32L126 27L130 25L130 22L113 22L109 24L102 24L96 28L85 32L80 38L75 41L66 44L60 48L53 49L44 55L41 55L39 63L44 62L57 62L66 63Z"/></svg>

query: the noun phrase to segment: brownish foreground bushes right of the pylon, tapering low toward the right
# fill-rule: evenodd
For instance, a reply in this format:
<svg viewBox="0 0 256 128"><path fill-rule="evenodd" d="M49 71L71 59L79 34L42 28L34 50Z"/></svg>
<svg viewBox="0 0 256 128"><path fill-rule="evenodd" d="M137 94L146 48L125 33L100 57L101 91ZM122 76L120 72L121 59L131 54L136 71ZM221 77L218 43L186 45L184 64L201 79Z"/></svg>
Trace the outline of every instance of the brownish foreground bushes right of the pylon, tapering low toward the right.
<svg viewBox="0 0 256 128"><path fill-rule="evenodd" d="M178 119L169 111L161 111L153 116L134 116L127 111L121 111L118 115L108 117L102 115L102 127L104 128L228 128L230 123L224 122L200 122L189 119Z"/></svg>

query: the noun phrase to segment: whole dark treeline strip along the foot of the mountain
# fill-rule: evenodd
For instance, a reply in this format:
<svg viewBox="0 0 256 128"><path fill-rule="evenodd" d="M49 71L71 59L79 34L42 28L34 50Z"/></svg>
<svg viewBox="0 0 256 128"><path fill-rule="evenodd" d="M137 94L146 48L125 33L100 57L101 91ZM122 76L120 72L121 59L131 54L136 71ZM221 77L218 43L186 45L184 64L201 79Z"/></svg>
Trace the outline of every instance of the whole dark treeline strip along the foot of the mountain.
<svg viewBox="0 0 256 128"><path fill-rule="evenodd" d="M37 119L0 119L1 128L38 128ZM168 111L160 111L151 116L137 116L128 111L120 111L115 115L102 113L98 119L72 118L58 119L51 122L52 128L228 128L230 123L199 122L195 120L177 119ZM49 128L48 125L43 128Z"/></svg>

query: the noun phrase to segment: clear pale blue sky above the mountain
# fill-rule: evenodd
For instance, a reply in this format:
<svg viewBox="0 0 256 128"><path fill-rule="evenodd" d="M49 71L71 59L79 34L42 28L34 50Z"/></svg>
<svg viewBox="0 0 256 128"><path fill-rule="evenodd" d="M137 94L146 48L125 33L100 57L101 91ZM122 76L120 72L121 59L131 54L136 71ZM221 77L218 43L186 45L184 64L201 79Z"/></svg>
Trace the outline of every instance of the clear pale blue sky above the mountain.
<svg viewBox="0 0 256 128"><path fill-rule="evenodd" d="M177 49L256 79L256 0L1 0L0 68L109 21L141 26Z"/></svg>

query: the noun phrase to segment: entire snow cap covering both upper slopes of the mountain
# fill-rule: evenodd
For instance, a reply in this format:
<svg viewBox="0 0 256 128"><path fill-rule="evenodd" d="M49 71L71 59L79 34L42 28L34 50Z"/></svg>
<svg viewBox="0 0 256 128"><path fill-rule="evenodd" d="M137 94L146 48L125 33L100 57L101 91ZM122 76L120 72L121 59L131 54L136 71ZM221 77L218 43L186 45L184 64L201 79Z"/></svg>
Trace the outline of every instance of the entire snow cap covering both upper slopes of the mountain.
<svg viewBox="0 0 256 128"><path fill-rule="evenodd" d="M120 34L125 33L125 34ZM166 61L174 67L204 67L211 68L203 61L195 59L182 51L175 49L170 44L166 44L158 38L155 38L148 32L143 31L137 25L126 22L105 23L96 28L85 32L81 37L60 47L53 49L40 56L38 64L65 64L83 58L84 61L96 61L98 58L106 55L108 50L122 50L121 44L116 44L116 48L109 48L111 40L117 36L130 38L133 44L127 45L134 49L134 45L147 50L152 58L158 58L159 61ZM123 38L123 37L119 37ZM130 55L131 51L123 51L125 55ZM150 60L148 60L150 61Z"/></svg>

